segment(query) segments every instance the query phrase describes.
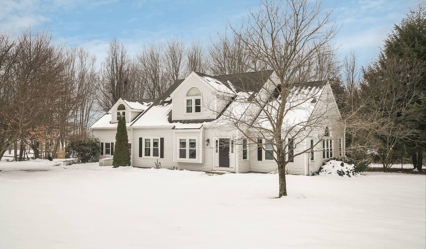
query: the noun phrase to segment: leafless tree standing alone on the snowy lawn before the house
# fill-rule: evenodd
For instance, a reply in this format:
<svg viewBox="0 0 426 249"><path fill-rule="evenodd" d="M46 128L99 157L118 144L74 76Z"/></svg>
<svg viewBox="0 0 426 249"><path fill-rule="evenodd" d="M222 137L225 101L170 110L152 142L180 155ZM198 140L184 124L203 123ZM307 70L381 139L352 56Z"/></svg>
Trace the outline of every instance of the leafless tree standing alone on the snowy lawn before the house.
<svg viewBox="0 0 426 249"><path fill-rule="evenodd" d="M325 121L335 123L339 118L326 117L324 112L308 115L319 92L302 88L303 83L328 75L321 70L329 70L330 66L314 65L333 61L328 60L327 54L334 54L328 48L337 27L331 23L330 15L331 12L322 12L320 2L262 1L259 9L249 9L241 26L231 26L235 40L241 42L248 57L273 69L276 75L267 76L270 79L266 84L241 87L239 95L230 101L237 102L236 106L249 102L250 106L242 115L236 115L241 108L238 107L222 117L224 123L238 129L252 144L257 144L259 138L268 142L259 146L265 153L273 150L271 158L278 164L279 197L287 195L286 165L311 149L302 146L304 138L316 136L315 144L319 143L324 136L324 130L319 127L324 127ZM237 56L233 59L239 60ZM321 72L307 70L311 68ZM257 94L253 94L253 87L260 89ZM331 103L321 104L325 105L321 109L326 110ZM306 119L299 120L302 116ZM287 151L286 144L290 148Z"/></svg>

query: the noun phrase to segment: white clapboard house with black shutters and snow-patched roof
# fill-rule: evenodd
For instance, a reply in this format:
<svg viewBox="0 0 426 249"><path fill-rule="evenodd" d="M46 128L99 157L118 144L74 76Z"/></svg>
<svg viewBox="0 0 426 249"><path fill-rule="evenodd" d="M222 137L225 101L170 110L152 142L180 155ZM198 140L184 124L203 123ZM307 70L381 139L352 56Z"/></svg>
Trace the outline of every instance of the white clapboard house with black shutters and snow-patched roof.
<svg viewBox="0 0 426 249"><path fill-rule="evenodd" d="M238 96L238 88L252 87L250 91L259 92L256 89L259 84L254 83L267 84L274 75L272 70L220 76L192 72L184 80L177 80L157 99L121 98L90 127L92 134L101 141L100 158L112 157L117 117L124 116L132 166L155 167L159 160L163 168L271 172L276 169L276 163L268 153L250 144L233 126L220 125L217 121L218 113L231 108L230 100ZM316 127L317 133L322 135L306 137L293 149L295 153L317 144L312 152L295 157L286 166L291 174L310 175L329 157L344 155L345 135L330 84L305 83L299 90L303 91L316 94L316 101L309 102L311 111L307 116L324 112L337 117ZM219 94L221 98L217 97ZM300 113L293 115L302 118ZM267 141L260 141L268 147Z"/></svg>

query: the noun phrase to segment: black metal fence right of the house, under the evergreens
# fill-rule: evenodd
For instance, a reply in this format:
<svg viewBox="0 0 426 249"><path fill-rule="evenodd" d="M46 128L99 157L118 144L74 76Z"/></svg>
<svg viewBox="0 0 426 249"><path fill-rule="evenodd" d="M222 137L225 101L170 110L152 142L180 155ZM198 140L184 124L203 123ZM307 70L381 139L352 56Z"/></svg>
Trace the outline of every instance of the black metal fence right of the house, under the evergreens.
<svg viewBox="0 0 426 249"><path fill-rule="evenodd" d="M365 156L364 160L370 162L370 168L383 168L383 163L378 155ZM410 154L392 154L391 169L414 169L413 160ZM422 169L426 169L426 154L423 154Z"/></svg>

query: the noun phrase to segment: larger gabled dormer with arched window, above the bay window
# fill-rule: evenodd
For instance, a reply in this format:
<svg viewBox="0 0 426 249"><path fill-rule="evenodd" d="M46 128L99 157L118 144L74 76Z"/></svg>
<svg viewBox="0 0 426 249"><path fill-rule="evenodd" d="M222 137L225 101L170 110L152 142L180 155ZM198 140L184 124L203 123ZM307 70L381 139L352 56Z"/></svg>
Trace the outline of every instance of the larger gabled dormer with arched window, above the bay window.
<svg viewBox="0 0 426 249"><path fill-rule="evenodd" d="M170 94L173 99L172 120L202 120L217 117L235 96L226 81L192 72Z"/></svg>

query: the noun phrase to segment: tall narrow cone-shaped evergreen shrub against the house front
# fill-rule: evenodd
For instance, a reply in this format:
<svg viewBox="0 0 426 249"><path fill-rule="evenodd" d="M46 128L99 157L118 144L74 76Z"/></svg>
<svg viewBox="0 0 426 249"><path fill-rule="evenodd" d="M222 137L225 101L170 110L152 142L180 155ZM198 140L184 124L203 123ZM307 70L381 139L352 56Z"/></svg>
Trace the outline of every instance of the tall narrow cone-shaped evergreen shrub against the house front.
<svg viewBox="0 0 426 249"><path fill-rule="evenodd" d="M123 117L118 119L112 165L114 168L130 165L129 140L127 139L126 121Z"/></svg>

